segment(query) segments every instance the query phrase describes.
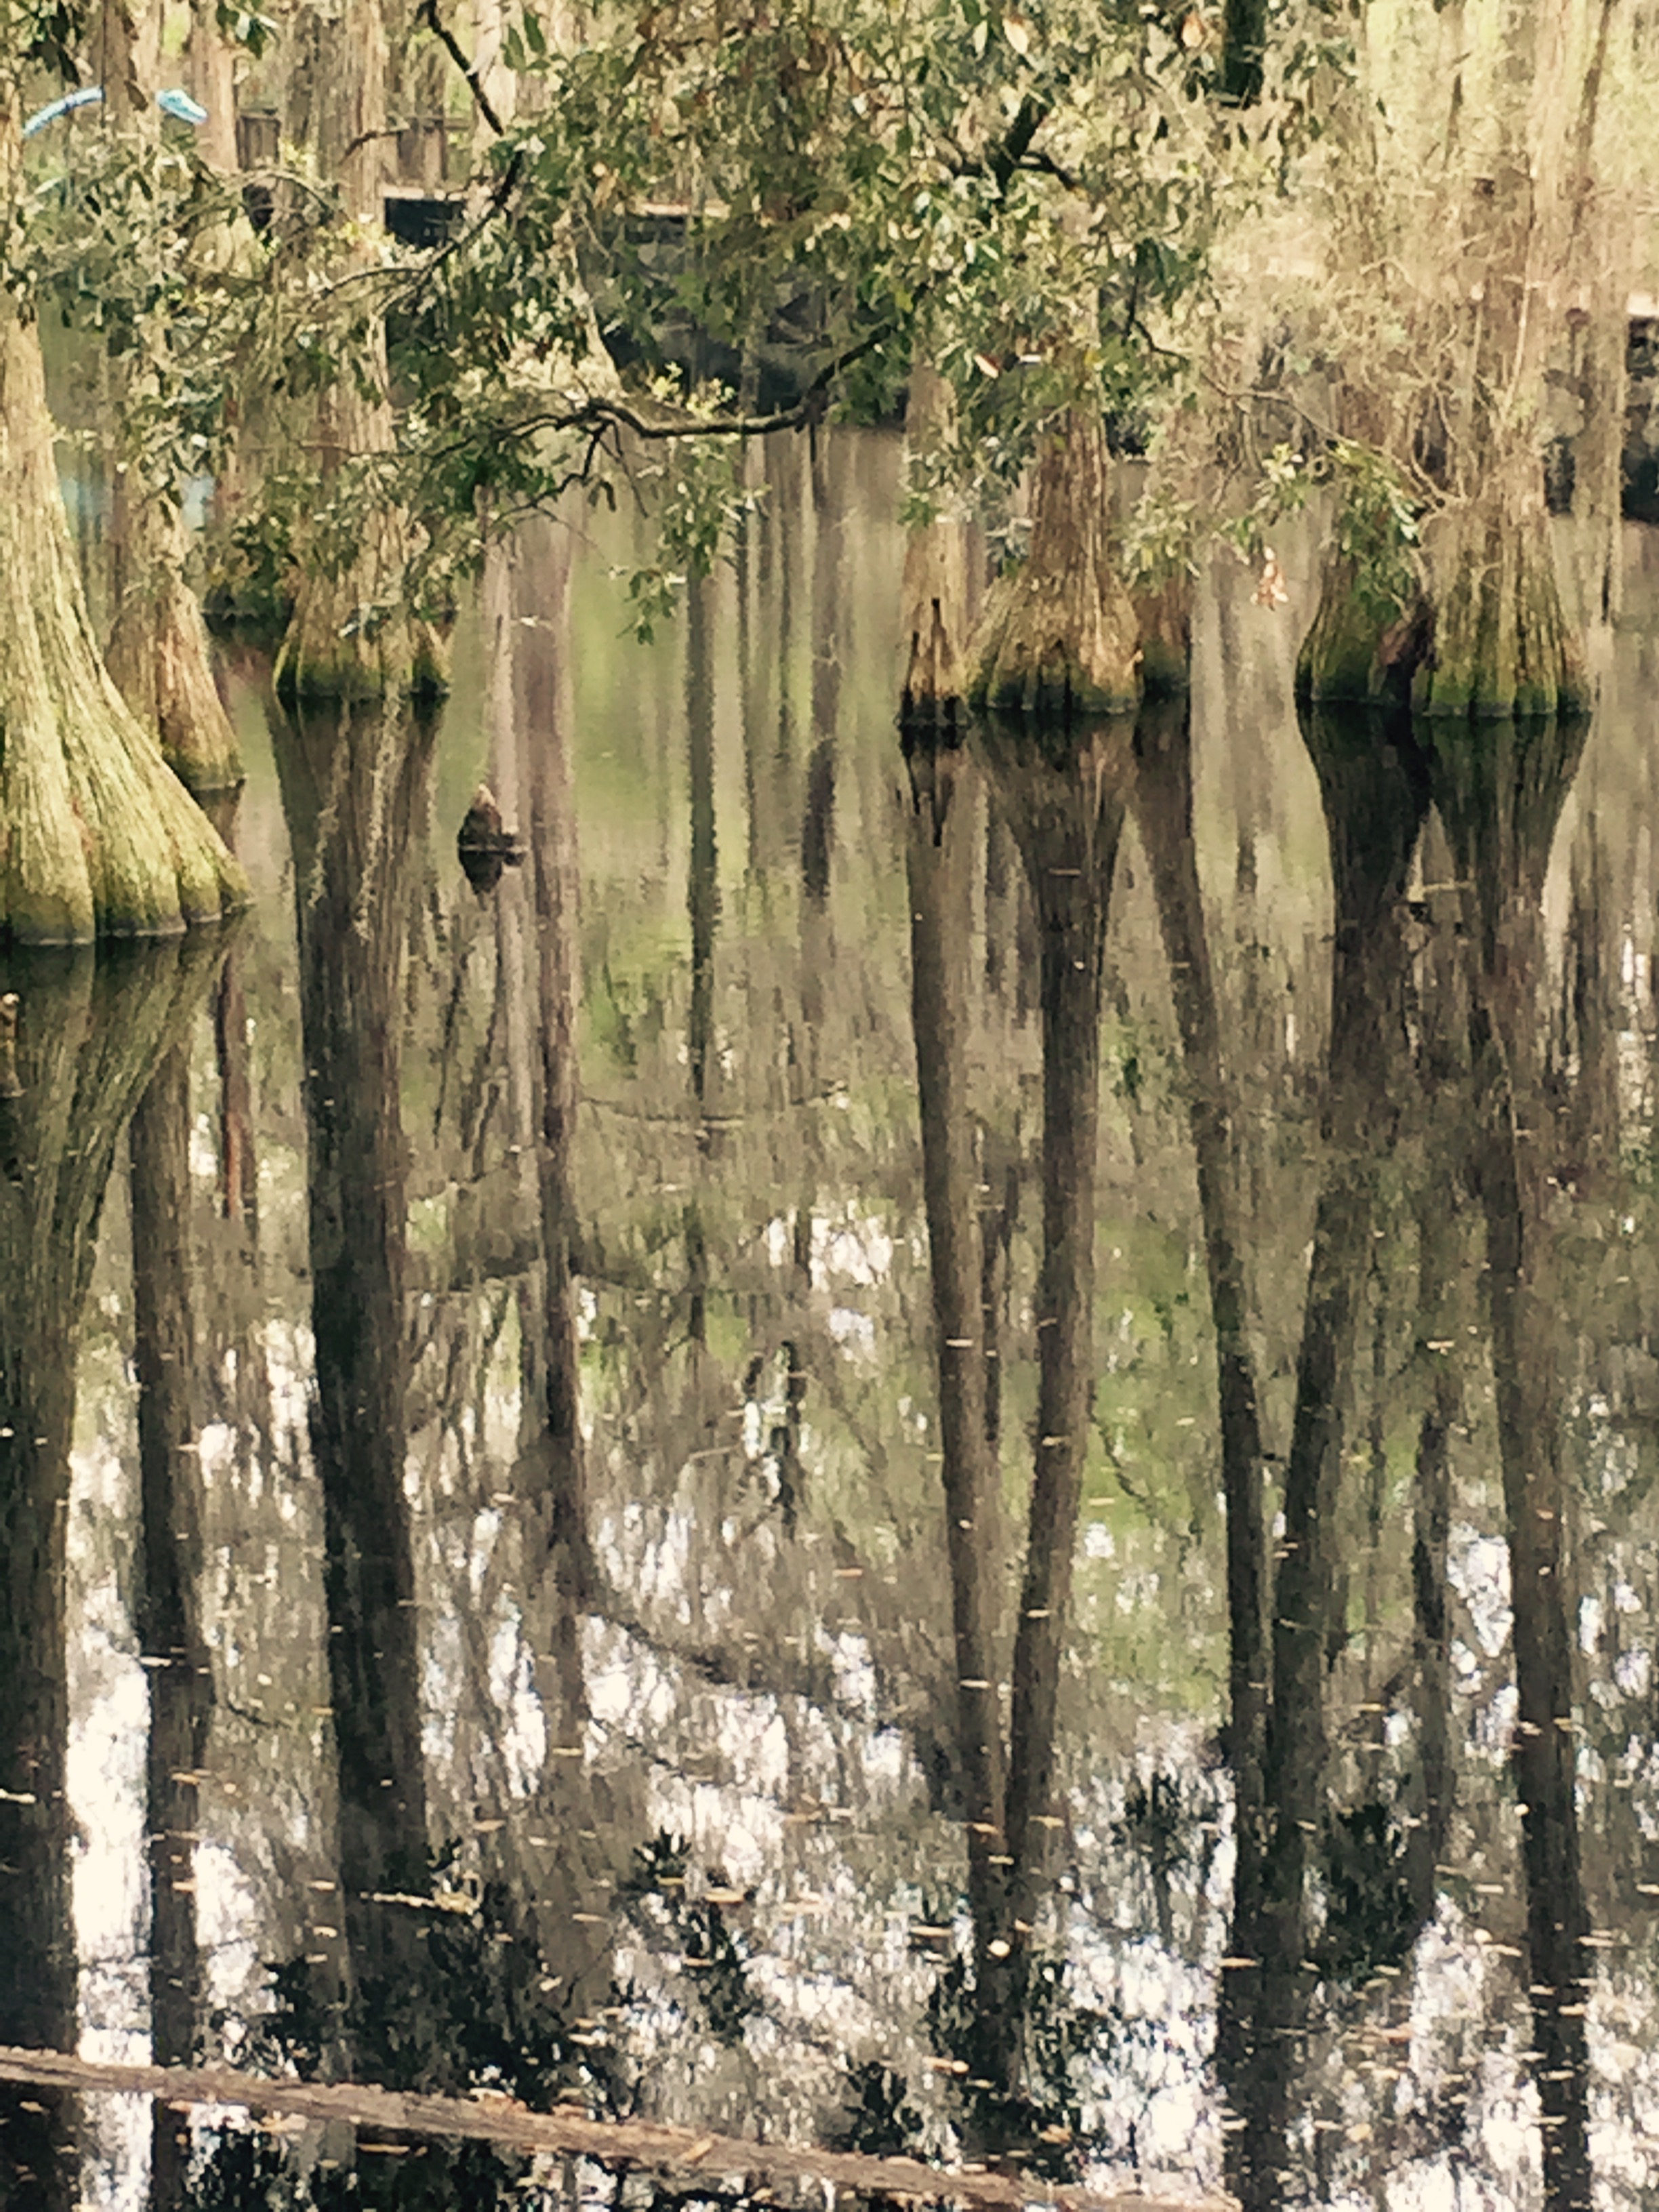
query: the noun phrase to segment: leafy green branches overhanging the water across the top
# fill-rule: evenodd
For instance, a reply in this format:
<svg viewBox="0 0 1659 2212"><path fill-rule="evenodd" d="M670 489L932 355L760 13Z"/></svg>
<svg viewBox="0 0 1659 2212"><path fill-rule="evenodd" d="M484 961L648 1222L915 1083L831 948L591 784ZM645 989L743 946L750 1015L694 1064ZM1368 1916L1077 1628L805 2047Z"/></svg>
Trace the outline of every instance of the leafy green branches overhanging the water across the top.
<svg viewBox="0 0 1659 2212"><path fill-rule="evenodd" d="M254 55L272 38L237 0L219 22ZM498 526L571 487L615 498L633 473L659 493L659 553L626 577L650 637L752 500L726 436L739 405L672 367L675 327L741 374L765 354L803 394L790 420L889 416L931 361L958 425L918 511L964 495L1013 551L1011 491L1068 407L1139 436L1192 389L1217 241L1310 135L1294 82L1332 62L1287 35L1281 97L1219 135L1214 60L1186 24L1130 0L699 0L602 13L562 51L526 11L507 38L520 97L442 246L365 239L294 170L270 237L243 226L226 259L234 199L188 148L77 135L11 281L135 369L128 458L164 493L217 467L234 414L374 383L385 332L394 451L321 500L310 469L305 560L341 568L365 509L396 504L418 518L411 597L431 613L478 560L480 511ZM599 334L637 365L624 383ZM272 495L294 507L294 484Z"/></svg>

